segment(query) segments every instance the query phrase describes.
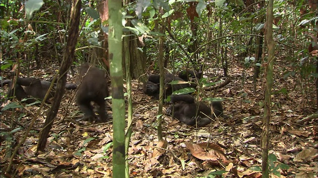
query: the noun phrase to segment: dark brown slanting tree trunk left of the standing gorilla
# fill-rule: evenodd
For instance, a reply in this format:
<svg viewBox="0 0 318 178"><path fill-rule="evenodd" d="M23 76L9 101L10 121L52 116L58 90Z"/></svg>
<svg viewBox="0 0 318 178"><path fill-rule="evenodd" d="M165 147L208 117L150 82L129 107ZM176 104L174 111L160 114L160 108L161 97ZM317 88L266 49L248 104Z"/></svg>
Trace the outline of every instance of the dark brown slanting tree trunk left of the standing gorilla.
<svg viewBox="0 0 318 178"><path fill-rule="evenodd" d="M80 18L80 9L81 9L81 0L73 0L73 9L71 12L71 22L70 22L70 31L69 31L69 39L64 50L63 61L61 64L61 68L59 71L59 80L57 82L56 92L54 95L54 100L52 106L47 114L47 118L44 123L44 127L40 132L39 143L37 147L37 151L44 151L45 145L47 142L48 135L53 125L54 118L56 117L60 104L61 99L64 94L65 83L67 72L71 67L73 58L74 58L74 51L75 46L77 44L77 40L79 37L79 18Z"/></svg>

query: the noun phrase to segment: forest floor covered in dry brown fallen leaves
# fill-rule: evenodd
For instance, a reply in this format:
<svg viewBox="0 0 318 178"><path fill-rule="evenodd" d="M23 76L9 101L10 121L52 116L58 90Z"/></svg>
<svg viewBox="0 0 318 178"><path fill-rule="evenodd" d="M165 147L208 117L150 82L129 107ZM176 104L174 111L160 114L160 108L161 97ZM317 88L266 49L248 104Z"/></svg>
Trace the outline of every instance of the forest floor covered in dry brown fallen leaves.
<svg viewBox="0 0 318 178"><path fill-rule="evenodd" d="M277 60L277 63L283 61ZM45 71L33 71L31 76L48 80L58 66L42 68L45 68ZM214 74L209 70L213 70ZM204 77L212 77L215 73L222 75L221 71L208 69ZM208 177L209 174L210 178L214 175L219 175L219 178L261 177L259 169L254 166L261 167L262 162L260 141L264 76L261 74L257 80L254 93L251 70L243 72L242 66L236 65L229 70L229 74L230 84L217 91L206 91L206 94L223 98L225 114L230 118L218 118L211 125L197 129L164 114L162 134L165 140L160 141L156 129L158 101L143 93L141 83L132 82L134 118L128 151L131 178L195 178ZM68 82L75 80L69 79ZM280 174L282 178L317 178L317 118L297 124L297 121L316 113L315 85L310 86L313 89L312 94L306 96L300 86L299 77L284 78L283 72L275 69L273 89L281 92L272 95L269 133L272 177L279 177L277 175ZM284 89L287 90L286 94ZM112 177L110 143L113 125L111 122L95 125L84 121L75 122L82 115L73 101L74 95L75 91L66 91L48 138L46 151L36 156L39 132L50 108L50 105L45 105L26 141L14 157L11 172L6 174L7 177ZM314 99L311 100L310 96ZM111 121L111 101L107 102ZM2 103L1 107L5 104ZM164 107L167 108L167 105ZM1 113L0 133L2 138L6 138L0 142L1 177L8 166L12 149L24 136L37 109L36 106L29 106ZM14 122L11 121L12 118ZM12 123L14 128L11 128ZM16 130L3 136L3 133L12 129Z"/></svg>

